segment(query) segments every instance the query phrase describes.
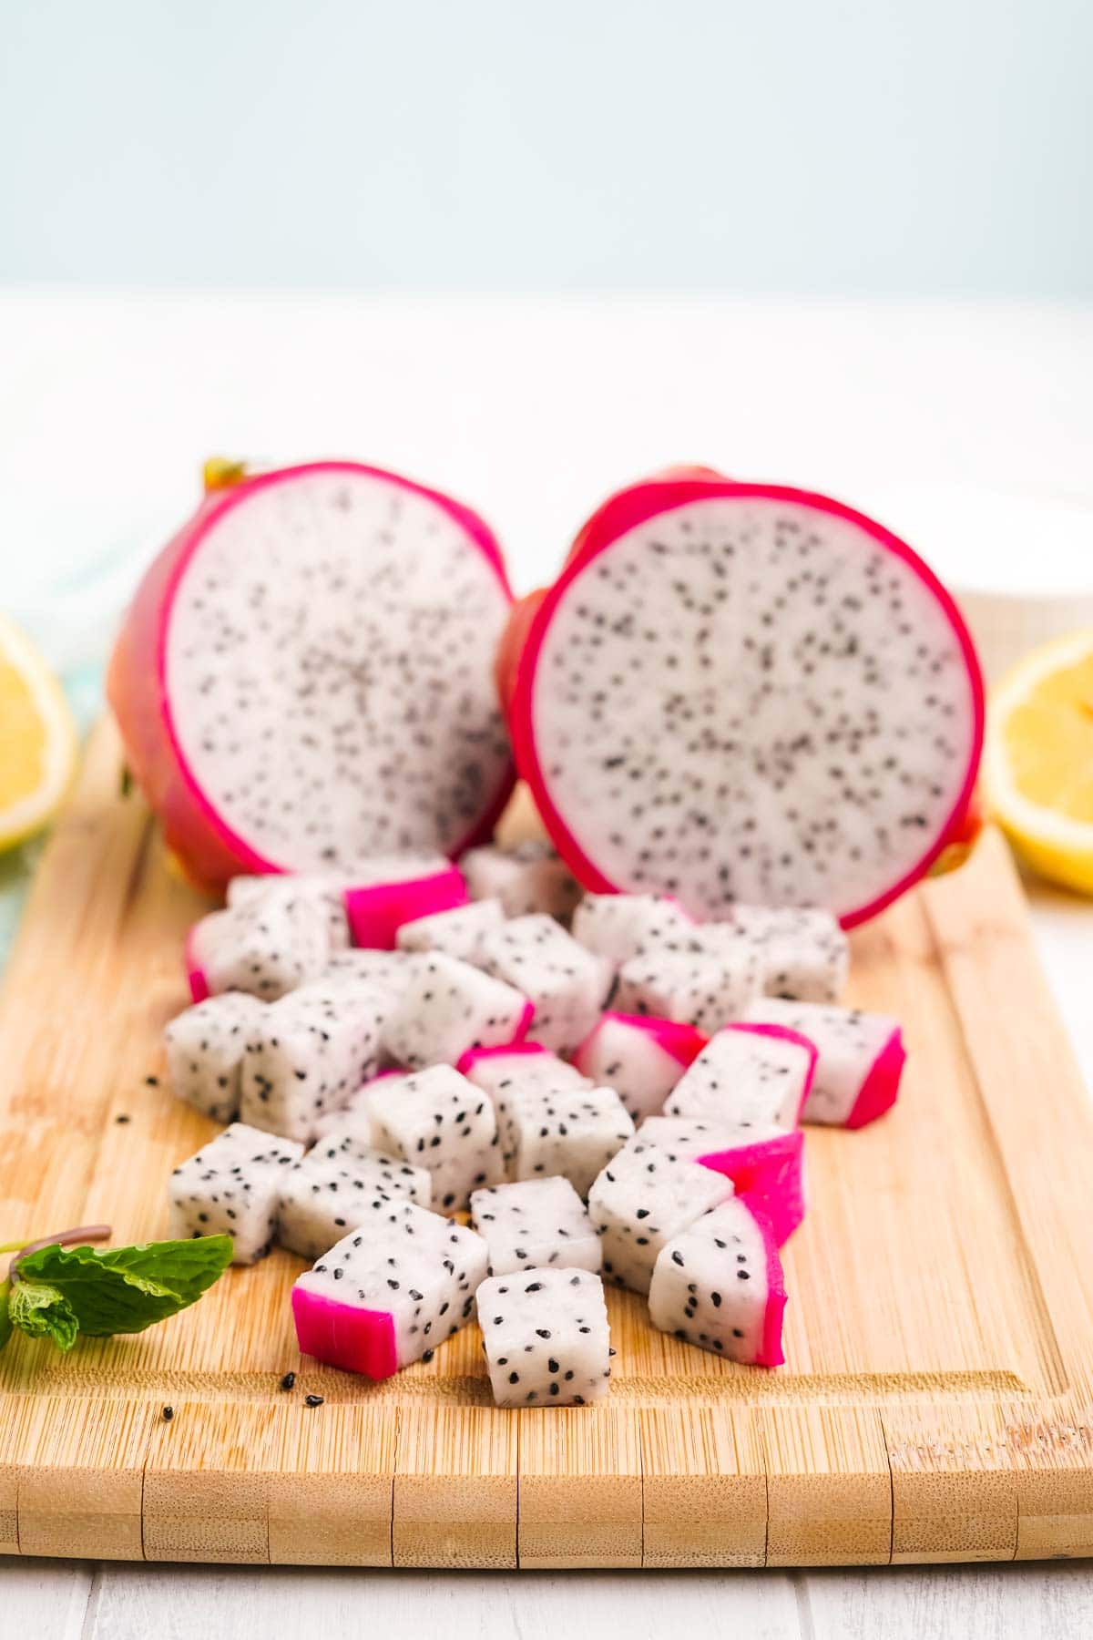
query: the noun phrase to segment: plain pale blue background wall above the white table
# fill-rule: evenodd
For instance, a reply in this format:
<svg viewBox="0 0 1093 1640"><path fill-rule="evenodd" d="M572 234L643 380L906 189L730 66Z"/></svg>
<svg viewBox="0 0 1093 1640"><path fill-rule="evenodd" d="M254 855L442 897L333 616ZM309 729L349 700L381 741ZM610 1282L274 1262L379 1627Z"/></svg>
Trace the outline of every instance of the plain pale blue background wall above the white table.
<svg viewBox="0 0 1093 1640"><path fill-rule="evenodd" d="M1093 289L1090 0L0 20L0 282Z"/></svg>

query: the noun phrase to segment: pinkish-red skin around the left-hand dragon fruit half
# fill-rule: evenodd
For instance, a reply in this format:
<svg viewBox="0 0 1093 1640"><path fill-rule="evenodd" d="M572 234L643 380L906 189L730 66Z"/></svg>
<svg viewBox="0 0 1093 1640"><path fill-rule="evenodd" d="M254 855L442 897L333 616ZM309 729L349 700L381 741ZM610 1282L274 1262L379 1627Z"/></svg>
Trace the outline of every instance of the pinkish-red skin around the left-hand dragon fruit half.
<svg viewBox="0 0 1093 1640"><path fill-rule="evenodd" d="M164 841L193 884L221 889L246 872L270 872L300 866L295 859L272 859L256 850L223 818L210 800L202 779L182 751L174 723L167 682L167 631L172 605L190 559L234 508L275 485L311 476L374 479L392 487L393 495L413 497L439 508L462 531L467 544L485 559L501 599L511 605L505 564L497 538L470 508L411 479L352 461L320 461L283 467L244 479L229 489L206 494L195 515L167 543L149 566L128 610L110 659L107 694L121 730L128 766L159 817ZM452 856L487 840L513 789L515 772L501 769L482 794L482 807L464 835L452 835L446 851ZM367 853L367 838L359 853Z"/></svg>

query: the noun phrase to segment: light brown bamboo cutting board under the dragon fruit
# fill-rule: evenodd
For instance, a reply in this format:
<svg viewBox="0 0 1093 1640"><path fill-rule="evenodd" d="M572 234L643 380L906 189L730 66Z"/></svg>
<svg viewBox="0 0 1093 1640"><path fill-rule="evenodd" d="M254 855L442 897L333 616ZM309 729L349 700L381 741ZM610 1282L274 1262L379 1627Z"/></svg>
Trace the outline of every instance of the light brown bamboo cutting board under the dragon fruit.
<svg viewBox="0 0 1093 1640"><path fill-rule="evenodd" d="M149 1077L203 907L95 736L0 999L0 1240L164 1233L213 1127ZM0 1551L365 1566L803 1566L1093 1553L1093 1114L1001 840L854 935L903 1096L806 1138L787 1364L610 1294L601 1407L490 1404L467 1327L385 1384L300 1358L274 1253L69 1356L0 1355ZM298 1373L297 1387L279 1389ZM306 1392L324 1404L308 1409ZM162 1419L162 1407L174 1419Z"/></svg>

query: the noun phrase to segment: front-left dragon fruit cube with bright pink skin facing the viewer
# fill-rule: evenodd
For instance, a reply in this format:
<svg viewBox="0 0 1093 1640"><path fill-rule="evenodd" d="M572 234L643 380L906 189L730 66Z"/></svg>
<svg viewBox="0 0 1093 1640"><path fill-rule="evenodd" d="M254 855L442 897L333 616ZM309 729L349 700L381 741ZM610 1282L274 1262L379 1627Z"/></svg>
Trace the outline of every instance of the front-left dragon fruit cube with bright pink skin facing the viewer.
<svg viewBox="0 0 1093 1640"><path fill-rule="evenodd" d="M487 1246L474 1230L390 1197L292 1289L305 1355L367 1378L429 1361L470 1320Z"/></svg>

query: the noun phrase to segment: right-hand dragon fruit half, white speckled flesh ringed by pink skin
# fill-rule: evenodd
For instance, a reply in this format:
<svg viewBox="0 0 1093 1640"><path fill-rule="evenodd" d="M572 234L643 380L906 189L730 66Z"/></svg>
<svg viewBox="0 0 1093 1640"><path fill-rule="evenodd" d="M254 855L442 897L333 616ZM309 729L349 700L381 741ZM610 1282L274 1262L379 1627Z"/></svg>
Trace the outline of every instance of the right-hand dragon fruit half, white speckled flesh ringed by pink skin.
<svg viewBox="0 0 1093 1640"><path fill-rule="evenodd" d="M587 889L821 905L844 927L959 831L983 740L968 631L839 502L711 472L613 495L498 654L519 772Z"/></svg>

